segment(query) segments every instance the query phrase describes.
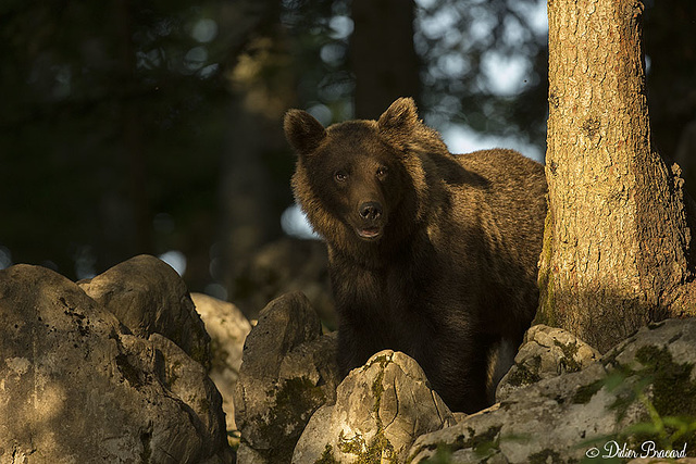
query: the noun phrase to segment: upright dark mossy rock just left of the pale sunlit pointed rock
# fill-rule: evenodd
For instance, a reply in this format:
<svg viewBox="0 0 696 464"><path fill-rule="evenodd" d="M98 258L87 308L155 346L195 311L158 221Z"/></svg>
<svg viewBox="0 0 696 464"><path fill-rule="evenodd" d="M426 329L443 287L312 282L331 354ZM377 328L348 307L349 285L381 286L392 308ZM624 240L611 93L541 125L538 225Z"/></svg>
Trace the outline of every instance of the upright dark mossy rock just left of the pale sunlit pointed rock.
<svg viewBox="0 0 696 464"><path fill-rule="evenodd" d="M335 401L335 336L299 292L269 303L244 347L235 391L240 463L289 462L311 415Z"/></svg>

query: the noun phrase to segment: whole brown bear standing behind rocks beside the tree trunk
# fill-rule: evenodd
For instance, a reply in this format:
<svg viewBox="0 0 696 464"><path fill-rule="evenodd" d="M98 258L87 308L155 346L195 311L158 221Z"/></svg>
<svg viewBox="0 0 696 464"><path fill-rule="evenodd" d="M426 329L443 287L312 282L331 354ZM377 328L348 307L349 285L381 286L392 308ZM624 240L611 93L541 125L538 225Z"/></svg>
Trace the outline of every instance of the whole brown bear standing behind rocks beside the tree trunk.
<svg viewBox="0 0 696 464"><path fill-rule="evenodd" d="M450 153L410 98L328 128L290 110L285 134L295 197L328 247L344 375L398 350L452 411L488 405L496 353L517 350L536 312L543 166Z"/></svg>

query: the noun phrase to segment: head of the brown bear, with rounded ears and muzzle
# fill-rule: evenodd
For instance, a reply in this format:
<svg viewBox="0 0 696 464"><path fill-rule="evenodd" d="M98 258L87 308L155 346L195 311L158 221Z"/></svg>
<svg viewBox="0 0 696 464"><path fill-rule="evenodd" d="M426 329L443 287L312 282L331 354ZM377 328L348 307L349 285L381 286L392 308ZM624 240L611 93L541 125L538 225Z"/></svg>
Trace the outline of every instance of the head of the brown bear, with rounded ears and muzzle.
<svg viewBox="0 0 696 464"><path fill-rule="evenodd" d="M298 154L295 197L314 230L338 248L393 241L412 229L428 195L423 153L448 154L410 98L395 101L378 121L328 128L290 110L285 135Z"/></svg>

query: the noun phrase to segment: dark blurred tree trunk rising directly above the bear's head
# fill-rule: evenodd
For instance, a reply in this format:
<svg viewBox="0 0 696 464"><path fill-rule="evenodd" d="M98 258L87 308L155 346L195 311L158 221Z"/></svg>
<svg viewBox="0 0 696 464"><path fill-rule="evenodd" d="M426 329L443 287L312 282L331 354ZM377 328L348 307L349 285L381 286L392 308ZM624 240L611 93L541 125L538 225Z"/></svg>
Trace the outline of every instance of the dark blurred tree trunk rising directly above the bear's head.
<svg viewBox="0 0 696 464"><path fill-rule="evenodd" d="M356 117L376 120L399 97L419 100L414 8L413 0L352 1L350 63L356 75Z"/></svg>

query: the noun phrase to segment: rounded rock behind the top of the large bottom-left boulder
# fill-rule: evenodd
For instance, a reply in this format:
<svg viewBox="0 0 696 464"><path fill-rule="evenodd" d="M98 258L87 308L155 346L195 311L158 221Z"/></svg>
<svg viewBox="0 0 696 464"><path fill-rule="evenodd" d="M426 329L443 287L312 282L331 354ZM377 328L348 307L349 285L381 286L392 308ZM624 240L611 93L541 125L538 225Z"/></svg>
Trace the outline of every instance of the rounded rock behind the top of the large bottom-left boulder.
<svg viewBox="0 0 696 464"><path fill-rule="evenodd" d="M210 360L210 337L186 284L163 261L142 254L78 285L134 335L160 334L199 363Z"/></svg>

